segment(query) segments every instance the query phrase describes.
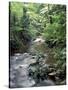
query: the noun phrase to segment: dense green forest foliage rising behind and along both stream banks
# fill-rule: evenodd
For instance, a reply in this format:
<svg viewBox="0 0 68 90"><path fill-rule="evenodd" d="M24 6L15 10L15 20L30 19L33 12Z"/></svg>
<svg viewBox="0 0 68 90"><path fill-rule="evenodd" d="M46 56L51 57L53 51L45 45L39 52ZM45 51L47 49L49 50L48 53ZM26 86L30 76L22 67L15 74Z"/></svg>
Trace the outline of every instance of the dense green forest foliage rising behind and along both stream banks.
<svg viewBox="0 0 68 90"><path fill-rule="evenodd" d="M66 72L66 6L10 3L11 53L25 52L38 36L52 49L57 70Z"/></svg>

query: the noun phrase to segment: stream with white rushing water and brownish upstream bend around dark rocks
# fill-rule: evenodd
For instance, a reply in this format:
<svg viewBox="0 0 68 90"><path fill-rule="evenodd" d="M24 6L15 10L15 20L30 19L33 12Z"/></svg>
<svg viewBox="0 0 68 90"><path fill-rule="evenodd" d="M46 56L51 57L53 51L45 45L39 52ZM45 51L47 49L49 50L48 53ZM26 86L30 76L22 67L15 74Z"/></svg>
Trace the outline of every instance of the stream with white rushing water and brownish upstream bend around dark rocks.
<svg viewBox="0 0 68 90"><path fill-rule="evenodd" d="M29 65L36 63L36 56L33 55L33 53L38 53L36 51L40 50L40 52L45 53L44 64L48 65L49 63L53 63L53 57L49 55L51 51L48 48L44 47L43 44L36 43L34 46L33 45L27 53L15 53L13 56L10 56L10 88L55 85L50 79L45 79L44 81L36 83L36 81L29 76Z"/></svg>

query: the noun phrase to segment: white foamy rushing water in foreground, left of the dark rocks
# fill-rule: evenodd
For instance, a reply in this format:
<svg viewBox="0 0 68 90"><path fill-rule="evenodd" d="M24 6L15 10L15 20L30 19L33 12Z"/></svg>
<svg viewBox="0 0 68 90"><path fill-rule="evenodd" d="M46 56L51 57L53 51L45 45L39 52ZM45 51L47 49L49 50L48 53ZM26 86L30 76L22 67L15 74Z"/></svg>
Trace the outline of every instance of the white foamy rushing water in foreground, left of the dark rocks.
<svg viewBox="0 0 68 90"><path fill-rule="evenodd" d="M29 65L36 63L36 56L29 53L10 56L10 88L22 88L33 86L54 85L50 80L44 80L38 84L29 76Z"/></svg>

